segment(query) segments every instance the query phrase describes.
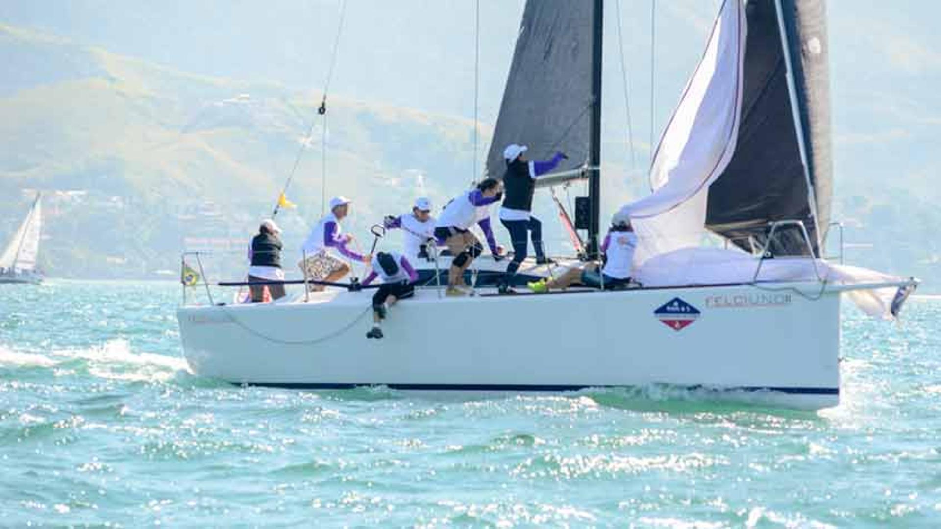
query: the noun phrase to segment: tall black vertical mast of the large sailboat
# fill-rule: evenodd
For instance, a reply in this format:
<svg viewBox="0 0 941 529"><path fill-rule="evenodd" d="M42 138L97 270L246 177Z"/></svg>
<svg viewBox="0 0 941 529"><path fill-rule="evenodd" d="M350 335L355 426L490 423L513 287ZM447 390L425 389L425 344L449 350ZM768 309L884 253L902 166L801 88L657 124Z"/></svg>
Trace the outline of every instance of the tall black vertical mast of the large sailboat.
<svg viewBox="0 0 941 529"><path fill-rule="evenodd" d="M594 0L592 20L592 108L588 136L588 259L598 259L598 236L601 216L601 51L604 27L603 0Z"/></svg>

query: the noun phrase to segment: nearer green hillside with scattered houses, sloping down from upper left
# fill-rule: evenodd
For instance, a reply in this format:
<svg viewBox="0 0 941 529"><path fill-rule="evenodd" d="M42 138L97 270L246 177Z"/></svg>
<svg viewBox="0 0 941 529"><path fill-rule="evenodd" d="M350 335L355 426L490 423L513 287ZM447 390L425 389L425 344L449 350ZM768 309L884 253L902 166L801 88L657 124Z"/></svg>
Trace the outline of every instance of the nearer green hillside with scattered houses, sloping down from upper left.
<svg viewBox="0 0 941 529"><path fill-rule="evenodd" d="M3 24L0 50L0 240L31 190L47 191L40 264L49 275L155 277L178 269L183 248L203 247L240 266L242 242L270 214L302 144L288 193L299 207L279 216L288 251L319 215L320 93L178 72ZM356 200L354 231L418 195L442 204L474 176L470 120L341 95L328 106L327 195ZM838 99L835 109L837 119L861 111ZM488 132L482 126L482 154ZM922 142L918 134L913 141ZM611 136L604 212L646 189L621 167L623 138ZM941 271L933 172L912 169L929 167L917 157L906 158L901 176L867 167L890 164L899 147L898 138L837 134L835 216L846 222L851 262L932 280ZM554 218L548 197L536 209ZM547 232L559 248L554 221Z"/></svg>

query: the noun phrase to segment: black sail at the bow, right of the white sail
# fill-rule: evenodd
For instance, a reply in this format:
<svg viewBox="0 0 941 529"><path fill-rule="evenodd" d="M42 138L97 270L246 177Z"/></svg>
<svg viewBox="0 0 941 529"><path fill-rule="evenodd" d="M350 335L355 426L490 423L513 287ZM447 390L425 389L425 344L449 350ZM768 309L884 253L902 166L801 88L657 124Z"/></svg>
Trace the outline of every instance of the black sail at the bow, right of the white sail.
<svg viewBox="0 0 941 529"><path fill-rule="evenodd" d="M779 1L780 21L775 0L747 2L738 144L710 186L706 223L712 232L751 249L749 237L763 244L768 222L803 220L813 252L820 256L818 241L826 236L833 191L826 8L824 0ZM791 106L788 59L800 130ZM775 255L807 253L797 230L779 231L774 239Z"/></svg>

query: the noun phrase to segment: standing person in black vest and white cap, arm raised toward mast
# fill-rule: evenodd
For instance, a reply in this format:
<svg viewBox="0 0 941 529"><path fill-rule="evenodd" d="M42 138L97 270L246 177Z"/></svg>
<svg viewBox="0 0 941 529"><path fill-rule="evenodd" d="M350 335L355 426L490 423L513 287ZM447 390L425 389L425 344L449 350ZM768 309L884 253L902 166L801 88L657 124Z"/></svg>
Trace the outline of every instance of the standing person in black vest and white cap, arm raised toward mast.
<svg viewBox="0 0 941 529"><path fill-rule="evenodd" d="M500 283L501 294L513 292L511 288L513 276L516 275L519 265L526 259L528 238L533 239L536 264L550 263L542 244L542 222L533 216L535 179L558 166L562 160L566 159L566 155L556 152L550 160L526 160L524 153L527 150L529 150L527 146L516 143L507 145L503 150L506 172L503 173L505 194L500 208L500 222L506 231L510 232L513 260L506 265L506 274L503 275Z"/></svg>

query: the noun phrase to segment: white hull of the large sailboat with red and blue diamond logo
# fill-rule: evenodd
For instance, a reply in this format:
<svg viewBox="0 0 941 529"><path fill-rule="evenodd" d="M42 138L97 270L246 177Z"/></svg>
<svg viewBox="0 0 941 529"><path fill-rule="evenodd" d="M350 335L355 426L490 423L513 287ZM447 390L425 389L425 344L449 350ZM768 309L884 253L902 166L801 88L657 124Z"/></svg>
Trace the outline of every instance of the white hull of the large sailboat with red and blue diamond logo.
<svg viewBox="0 0 941 529"><path fill-rule="evenodd" d="M178 317L191 370L239 384L483 392L667 384L748 399L773 393L787 408L836 406L839 296L813 299L800 294L811 285L792 286L458 298L432 289L391 310L382 340L364 337L369 292L183 307Z"/></svg>

